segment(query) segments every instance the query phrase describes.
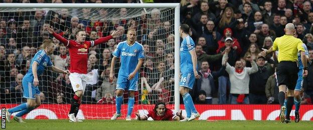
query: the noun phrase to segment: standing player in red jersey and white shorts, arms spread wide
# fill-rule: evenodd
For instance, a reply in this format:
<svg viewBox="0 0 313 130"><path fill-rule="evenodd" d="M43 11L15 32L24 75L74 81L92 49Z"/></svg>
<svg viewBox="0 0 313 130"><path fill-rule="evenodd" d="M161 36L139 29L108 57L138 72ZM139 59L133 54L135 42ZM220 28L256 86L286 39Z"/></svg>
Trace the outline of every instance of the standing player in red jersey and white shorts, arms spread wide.
<svg viewBox="0 0 313 130"><path fill-rule="evenodd" d="M115 38L116 36L119 36L121 32L113 31L113 33L109 36L101 37L94 41L86 41L85 30L76 31L76 40L67 40L61 35L55 33L52 26L47 27L47 31L69 48L71 61L69 78L71 80L72 88L75 94L72 99L71 110L68 114L68 117L70 122L81 122L82 120L77 119L76 116L79 110L81 97L84 94L87 84L87 62L89 48L96 46L97 44L104 43L111 38Z"/></svg>

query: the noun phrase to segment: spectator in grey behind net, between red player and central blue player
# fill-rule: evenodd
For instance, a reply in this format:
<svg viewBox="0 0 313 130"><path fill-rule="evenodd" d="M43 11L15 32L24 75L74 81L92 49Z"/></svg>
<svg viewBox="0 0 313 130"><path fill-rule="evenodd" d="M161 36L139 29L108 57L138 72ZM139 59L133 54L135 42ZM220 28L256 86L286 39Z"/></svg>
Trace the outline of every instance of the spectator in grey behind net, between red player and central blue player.
<svg viewBox="0 0 313 130"><path fill-rule="evenodd" d="M101 78L103 78L102 84L96 90L96 100L99 101L105 94L110 93L114 95L114 90L116 87L116 77L113 78L112 82L109 82L110 67L105 68L101 73Z"/></svg>

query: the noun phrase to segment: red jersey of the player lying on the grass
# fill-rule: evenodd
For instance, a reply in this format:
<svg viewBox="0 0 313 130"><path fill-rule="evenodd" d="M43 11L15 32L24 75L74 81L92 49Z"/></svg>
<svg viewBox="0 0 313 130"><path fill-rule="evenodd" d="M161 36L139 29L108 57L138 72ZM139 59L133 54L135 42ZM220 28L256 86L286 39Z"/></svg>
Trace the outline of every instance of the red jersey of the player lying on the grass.
<svg viewBox="0 0 313 130"><path fill-rule="evenodd" d="M165 114L163 116L159 116L153 110L149 110L146 117L151 117L153 120L173 120L175 116L177 116L171 109L166 109Z"/></svg>

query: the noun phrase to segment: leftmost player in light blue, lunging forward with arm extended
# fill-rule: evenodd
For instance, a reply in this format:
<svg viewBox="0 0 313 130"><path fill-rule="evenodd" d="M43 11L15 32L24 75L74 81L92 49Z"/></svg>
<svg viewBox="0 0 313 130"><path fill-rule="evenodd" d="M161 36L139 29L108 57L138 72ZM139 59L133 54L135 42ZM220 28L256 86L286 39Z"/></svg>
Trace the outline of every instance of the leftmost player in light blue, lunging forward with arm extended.
<svg viewBox="0 0 313 130"><path fill-rule="evenodd" d="M23 94L24 97L27 98L27 102L7 109L6 118L8 122L11 120L11 114L18 111L20 112L14 115L13 119L18 122L24 122L21 117L41 104L40 91L38 89L38 76L44 72L46 66L55 72L69 73L69 70L59 69L52 64L49 57L54 51L54 42L52 40L45 40L43 42L43 48L44 49L39 50L33 57L30 68L22 80Z"/></svg>

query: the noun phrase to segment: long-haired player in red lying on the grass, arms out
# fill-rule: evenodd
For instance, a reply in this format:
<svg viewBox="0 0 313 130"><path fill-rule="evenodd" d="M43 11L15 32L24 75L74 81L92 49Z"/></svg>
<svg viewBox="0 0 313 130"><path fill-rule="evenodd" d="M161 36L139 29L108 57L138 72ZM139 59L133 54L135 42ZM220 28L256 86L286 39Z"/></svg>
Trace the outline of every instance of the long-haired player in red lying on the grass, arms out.
<svg viewBox="0 0 313 130"><path fill-rule="evenodd" d="M151 117L153 120L181 120L184 119L182 115L182 110L176 114L168 109L164 102L158 102L155 104L154 108L148 111L148 114L140 116L139 112L135 112L138 120L147 120Z"/></svg>

